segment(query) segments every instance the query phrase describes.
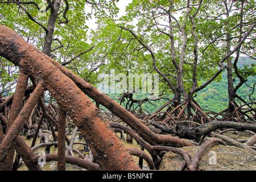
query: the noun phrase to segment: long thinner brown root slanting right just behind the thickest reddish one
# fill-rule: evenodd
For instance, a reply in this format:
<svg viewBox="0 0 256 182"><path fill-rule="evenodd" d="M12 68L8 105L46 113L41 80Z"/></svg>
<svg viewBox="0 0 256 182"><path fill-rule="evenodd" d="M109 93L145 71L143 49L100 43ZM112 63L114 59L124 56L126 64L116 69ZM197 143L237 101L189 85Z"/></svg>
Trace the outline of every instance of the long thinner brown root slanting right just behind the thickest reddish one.
<svg viewBox="0 0 256 182"><path fill-rule="evenodd" d="M176 137L172 137L171 135L164 136L153 133L146 125L144 125L140 119L135 117L132 113L127 111L124 107L119 105L117 102L112 100L106 94L100 92L100 90L94 88L93 85L88 82L82 80L79 76L74 73L68 71L68 69L64 68L61 64L52 60L52 64L54 64L57 68L60 69L65 75L67 75L75 84L90 98L93 98L94 101L100 103L105 106L107 109L112 111L113 114L117 115L123 122L131 127L140 137L142 137L146 142L156 145L156 144L166 144L168 146L192 146L191 142L186 140L182 140Z"/></svg>

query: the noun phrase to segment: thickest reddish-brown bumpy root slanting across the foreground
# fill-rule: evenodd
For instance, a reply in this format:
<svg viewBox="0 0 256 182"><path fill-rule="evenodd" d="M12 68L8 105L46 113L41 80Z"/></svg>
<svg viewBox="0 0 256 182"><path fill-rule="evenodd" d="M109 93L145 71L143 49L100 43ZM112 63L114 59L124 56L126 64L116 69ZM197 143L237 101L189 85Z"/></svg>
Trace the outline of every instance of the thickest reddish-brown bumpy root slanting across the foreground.
<svg viewBox="0 0 256 182"><path fill-rule="evenodd" d="M0 56L44 82L89 144L96 162L106 170L140 170L92 101L64 75L51 58L38 51L9 27L0 26Z"/></svg>

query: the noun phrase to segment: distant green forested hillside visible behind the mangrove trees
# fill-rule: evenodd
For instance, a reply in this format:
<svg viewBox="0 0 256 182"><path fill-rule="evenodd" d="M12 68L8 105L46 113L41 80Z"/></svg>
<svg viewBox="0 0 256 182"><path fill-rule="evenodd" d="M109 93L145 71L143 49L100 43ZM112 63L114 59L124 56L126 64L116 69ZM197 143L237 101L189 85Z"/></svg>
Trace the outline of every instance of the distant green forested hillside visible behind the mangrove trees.
<svg viewBox="0 0 256 182"><path fill-rule="evenodd" d="M255 64L256 61L250 59L249 57L240 57L238 61L238 68L243 68L245 65ZM254 74L255 75L255 74ZM238 84L238 78L236 78L234 82L234 86ZM247 85L253 86L254 82L256 82L256 76L250 76L248 81L246 82ZM255 88L256 89L256 88ZM248 88L245 84L238 89L238 95L241 96L246 101L249 101L249 94L251 94L252 89ZM251 98L255 100L256 94L254 93ZM118 98L118 94L110 94L111 98ZM142 99L147 97L147 94L134 94L134 99ZM169 95L168 98L172 98L172 95ZM197 93L195 100L200 104L203 109L212 110L212 111L221 111L226 109L228 106L228 81L226 76L226 71L222 73L222 79L220 81L213 81L209 84L205 89L200 90ZM151 103L147 102L142 106L145 111L149 113L154 112L167 100L161 101L151 101ZM125 106L125 104L122 104Z"/></svg>

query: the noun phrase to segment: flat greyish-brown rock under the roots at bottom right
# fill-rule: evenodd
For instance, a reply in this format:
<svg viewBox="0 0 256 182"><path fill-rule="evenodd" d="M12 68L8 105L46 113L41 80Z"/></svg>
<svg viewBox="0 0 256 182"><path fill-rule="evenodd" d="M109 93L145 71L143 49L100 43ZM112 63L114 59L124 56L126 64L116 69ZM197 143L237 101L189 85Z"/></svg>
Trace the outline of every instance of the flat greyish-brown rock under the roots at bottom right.
<svg viewBox="0 0 256 182"><path fill-rule="evenodd" d="M195 155L200 146L183 147L191 157ZM216 156L216 160L214 160ZM183 158L173 152L167 152L162 158L160 170L176 171ZM200 159L197 170L204 171L256 171L256 155L250 150L238 148L234 146L212 146L205 150Z"/></svg>

